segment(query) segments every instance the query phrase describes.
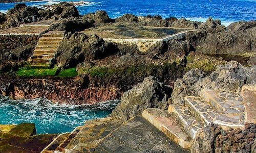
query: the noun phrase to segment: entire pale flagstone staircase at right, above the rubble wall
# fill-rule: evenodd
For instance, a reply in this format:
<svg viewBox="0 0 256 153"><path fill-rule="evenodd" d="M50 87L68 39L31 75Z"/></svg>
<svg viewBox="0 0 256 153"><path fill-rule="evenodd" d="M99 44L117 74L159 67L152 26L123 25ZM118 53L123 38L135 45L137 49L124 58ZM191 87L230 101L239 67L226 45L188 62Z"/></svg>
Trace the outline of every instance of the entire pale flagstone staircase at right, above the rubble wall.
<svg viewBox="0 0 256 153"><path fill-rule="evenodd" d="M168 110L146 109L142 116L171 140L189 149L198 131L211 122L241 128L245 107L241 93L203 89L200 97L186 96L185 105L169 105Z"/></svg>

